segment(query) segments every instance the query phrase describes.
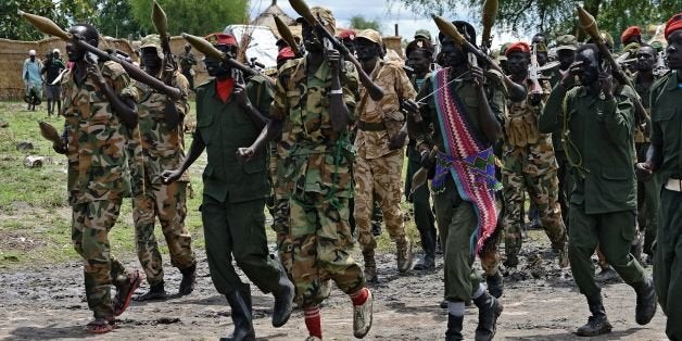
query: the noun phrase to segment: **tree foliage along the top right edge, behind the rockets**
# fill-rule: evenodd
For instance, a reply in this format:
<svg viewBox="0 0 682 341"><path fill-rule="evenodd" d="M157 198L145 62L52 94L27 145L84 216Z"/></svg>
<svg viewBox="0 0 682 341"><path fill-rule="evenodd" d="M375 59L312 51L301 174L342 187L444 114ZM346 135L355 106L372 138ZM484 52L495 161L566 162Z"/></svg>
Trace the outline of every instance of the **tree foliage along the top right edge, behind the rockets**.
<svg viewBox="0 0 682 341"><path fill-rule="evenodd" d="M421 14L435 13L455 15L460 20L473 17L480 21L484 0L467 0L468 11L462 15L463 3L459 0L390 0L393 4L404 4ZM588 12L597 18L601 29L609 31L614 37L628 26L639 25L644 28L648 24L665 23L670 16L682 9L682 0L498 0L496 26L505 30L533 34L544 31L550 37L564 34L578 34L576 5L582 4ZM459 13L454 13L456 9ZM616 39L618 40L618 39Z"/></svg>

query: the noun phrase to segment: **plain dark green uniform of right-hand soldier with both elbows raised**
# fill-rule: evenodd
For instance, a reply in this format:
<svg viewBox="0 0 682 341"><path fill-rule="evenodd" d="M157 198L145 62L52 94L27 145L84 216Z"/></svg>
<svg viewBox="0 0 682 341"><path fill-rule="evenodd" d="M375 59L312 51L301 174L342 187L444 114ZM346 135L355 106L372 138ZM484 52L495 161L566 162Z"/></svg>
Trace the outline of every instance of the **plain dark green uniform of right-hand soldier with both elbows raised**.
<svg viewBox="0 0 682 341"><path fill-rule="evenodd" d="M564 148L576 184L570 201L568 254L576 283L585 296L601 298L591 256L597 244L606 261L629 285L645 281L642 266L632 257L635 235L636 181L634 177L634 106L636 97L626 86L614 99L588 93L584 86L553 89L539 128L561 127Z"/></svg>

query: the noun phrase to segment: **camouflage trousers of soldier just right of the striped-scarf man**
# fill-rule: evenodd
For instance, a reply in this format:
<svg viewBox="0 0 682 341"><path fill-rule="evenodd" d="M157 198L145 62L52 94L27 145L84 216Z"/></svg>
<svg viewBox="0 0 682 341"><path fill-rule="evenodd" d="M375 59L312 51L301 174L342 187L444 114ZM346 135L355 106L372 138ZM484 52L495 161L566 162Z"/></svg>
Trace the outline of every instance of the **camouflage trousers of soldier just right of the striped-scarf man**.
<svg viewBox="0 0 682 341"><path fill-rule="evenodd" d="M521 212L526 190L538 207L552 247L561 250L566 243L566 226L558 203L559 182L552 141L545 137L536 144L513 149L506 147L503 162L502 184L506 204L503 226L507 260L514 263L521 250Z"/></svg>

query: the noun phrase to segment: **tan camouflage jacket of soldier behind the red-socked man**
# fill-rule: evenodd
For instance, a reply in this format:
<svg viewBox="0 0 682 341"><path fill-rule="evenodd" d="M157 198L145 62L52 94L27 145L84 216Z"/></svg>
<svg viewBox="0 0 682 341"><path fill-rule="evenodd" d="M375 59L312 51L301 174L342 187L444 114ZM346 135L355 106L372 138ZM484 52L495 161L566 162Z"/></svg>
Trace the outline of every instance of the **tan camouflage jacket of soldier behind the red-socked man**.
<svg viewBox="0 0 682 341"><path fill-rule="evenodd" d="M417 92L403 68L390 62L379 61L369 75L383 90L383 98L375 101L367 89L359 90L357 118L362 122L355 138L355 148L361 157L376 159L391 152L389 141L405 123L400 110L401 100L413 100ZM383 129L364 129L363 124L383 124Z"/></svg>

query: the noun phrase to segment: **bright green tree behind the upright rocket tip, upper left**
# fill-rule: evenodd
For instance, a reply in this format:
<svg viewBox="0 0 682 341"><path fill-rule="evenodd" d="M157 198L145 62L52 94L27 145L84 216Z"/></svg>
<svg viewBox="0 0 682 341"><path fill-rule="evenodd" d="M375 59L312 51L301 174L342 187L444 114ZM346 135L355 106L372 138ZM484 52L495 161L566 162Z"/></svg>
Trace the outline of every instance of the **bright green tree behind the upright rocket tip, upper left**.
<svg viewBox="0 0 682 341"><path fill-rule="evenodd" d="M189 33L206 35L222 31L229 24L249 20L249 0L159 0L168 16L171 35ZM130 0L132 16L147 33L154 31L151 21L152 1Z"/></svg>

